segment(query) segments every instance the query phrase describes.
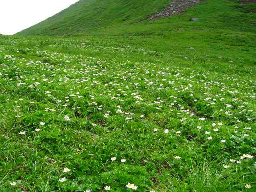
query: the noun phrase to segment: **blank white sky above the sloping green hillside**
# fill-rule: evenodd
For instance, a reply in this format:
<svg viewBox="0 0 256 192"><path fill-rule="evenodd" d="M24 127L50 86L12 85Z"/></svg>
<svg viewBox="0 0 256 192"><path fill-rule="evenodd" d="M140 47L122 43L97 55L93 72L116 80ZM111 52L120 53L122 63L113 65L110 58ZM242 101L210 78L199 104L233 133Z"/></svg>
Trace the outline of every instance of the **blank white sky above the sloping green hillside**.
<svg viewBox="0 0 256 192"><path fill-rule="evenodd" d="M15 34L53 16L77 1L0 0L0 34Z"/></svg>

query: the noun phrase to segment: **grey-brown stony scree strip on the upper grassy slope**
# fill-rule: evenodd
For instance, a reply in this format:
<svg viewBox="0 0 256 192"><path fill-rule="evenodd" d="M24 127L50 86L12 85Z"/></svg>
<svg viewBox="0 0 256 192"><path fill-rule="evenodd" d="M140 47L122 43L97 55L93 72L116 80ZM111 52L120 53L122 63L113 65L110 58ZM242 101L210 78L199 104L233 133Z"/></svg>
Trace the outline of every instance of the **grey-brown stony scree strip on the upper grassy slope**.
<svg viewBox="0 0 256 192"><path fill-rule="evenodd" d="M196 4L202 2L203 0L172 0L169 6L167 6L162 12L158 12L148 20L155 20L160 19L164 17L170 17L175 14L182 13L186 8L190 8L192 6L195 6Z"/></svg>

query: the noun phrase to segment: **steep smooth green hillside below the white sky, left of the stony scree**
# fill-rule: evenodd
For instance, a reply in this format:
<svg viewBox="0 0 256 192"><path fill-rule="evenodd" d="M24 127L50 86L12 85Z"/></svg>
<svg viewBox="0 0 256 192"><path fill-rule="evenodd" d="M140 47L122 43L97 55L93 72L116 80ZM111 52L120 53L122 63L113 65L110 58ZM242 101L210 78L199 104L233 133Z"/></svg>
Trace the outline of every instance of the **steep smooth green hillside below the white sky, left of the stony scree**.
<svg viewBox="0 0 256 192"><path fill-rule="evenodd" d="M131 24L162 10L170 0L80 0L18 34L74 34L116 24Z"/></svg>

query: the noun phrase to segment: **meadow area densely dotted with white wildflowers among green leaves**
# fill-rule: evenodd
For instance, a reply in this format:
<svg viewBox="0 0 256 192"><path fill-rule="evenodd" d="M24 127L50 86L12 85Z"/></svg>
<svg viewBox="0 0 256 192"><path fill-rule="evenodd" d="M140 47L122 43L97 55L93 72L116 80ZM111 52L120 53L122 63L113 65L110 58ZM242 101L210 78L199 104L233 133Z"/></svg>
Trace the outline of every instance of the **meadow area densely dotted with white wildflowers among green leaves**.
<svg viewBox="0 0 256 192"><path fill-rule="evenodd" d="M54 52L70 48L61 39L45 50L19 48L23 41L0 46L6 191L213 191L255 184L255 66L222 74Z"/></svg>

